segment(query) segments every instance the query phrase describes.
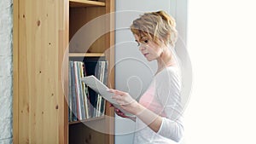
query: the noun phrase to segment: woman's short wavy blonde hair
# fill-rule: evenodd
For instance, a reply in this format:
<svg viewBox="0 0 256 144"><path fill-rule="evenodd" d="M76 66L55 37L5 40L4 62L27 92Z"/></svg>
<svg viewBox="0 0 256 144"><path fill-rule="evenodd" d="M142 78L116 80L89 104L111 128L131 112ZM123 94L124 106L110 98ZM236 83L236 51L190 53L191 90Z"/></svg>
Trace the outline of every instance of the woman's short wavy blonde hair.
<svg viewBox="0 0 256 144"><path fill-rule="evenodd" d="M172 16L162 10L140 15L137 20L133 20L130 28L131 32L140 38L140 41L143 37L148 37L158 45L162 41L173 47L177 41L176 22Z"/></svg>

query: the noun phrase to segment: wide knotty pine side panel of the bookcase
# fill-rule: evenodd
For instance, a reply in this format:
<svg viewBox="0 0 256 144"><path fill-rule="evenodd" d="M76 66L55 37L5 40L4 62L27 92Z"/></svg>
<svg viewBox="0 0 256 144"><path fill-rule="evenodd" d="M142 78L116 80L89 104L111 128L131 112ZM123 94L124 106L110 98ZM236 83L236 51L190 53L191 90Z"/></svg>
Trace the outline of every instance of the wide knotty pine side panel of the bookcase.
<svg viewBox="0 0 256 144"><path fill-rule="evenodd" d="M68 3L29 0L14 3L18 13L15 21L15 32L18 32L18 44L15 45L17 86L14 92L18 95L15 100L18 108L14 109L17 128L14 141L59 143L61 139L61 143L65 143L67 120L65 126L61 64L68 42L67 26L62 23L65 21L65 3L66 8Z"/></svg>

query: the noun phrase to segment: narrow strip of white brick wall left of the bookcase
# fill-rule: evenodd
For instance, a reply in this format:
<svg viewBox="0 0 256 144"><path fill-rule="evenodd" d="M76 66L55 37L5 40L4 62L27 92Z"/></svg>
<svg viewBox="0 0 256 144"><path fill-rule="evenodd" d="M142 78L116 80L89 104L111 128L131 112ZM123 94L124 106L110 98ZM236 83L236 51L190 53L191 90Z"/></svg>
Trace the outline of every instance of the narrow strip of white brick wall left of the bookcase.
<svg viewBox="0 0 256 144"><path fill-rule="evenodd" d="M12 0L0 0L0 144L13 143Z"/></svg>

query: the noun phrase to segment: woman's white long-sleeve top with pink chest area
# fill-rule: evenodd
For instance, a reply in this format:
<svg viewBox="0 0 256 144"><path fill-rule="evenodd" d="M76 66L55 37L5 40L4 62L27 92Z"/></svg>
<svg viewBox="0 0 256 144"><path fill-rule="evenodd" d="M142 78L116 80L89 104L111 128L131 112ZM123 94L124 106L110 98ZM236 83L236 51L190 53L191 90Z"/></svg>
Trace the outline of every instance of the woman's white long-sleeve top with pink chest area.
<svg viewBox="0 0 256 144"><path fill-rule="evenodd" d="M181 84L177 67L166 67L155 75L139 103L162 117L160 130L154 132L137 118L135 144L172 144L180 141L183 136Z"/></svg>

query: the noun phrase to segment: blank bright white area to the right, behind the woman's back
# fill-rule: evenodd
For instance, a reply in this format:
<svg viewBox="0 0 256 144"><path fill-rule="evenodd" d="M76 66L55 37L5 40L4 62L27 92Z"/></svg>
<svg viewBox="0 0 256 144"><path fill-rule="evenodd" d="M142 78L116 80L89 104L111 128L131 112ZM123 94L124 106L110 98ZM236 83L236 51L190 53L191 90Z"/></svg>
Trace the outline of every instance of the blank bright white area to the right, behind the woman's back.
<svg viewBox="0 0 256 144"><path fill-rule="evenodd" d="M194 82L186 143L255 144L255 2L193 0L188 14Z"/></svg>

